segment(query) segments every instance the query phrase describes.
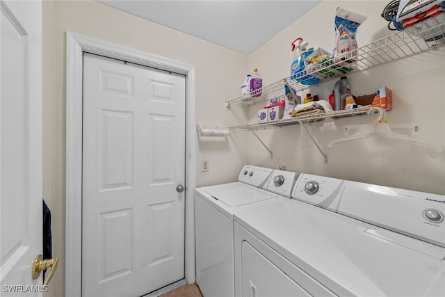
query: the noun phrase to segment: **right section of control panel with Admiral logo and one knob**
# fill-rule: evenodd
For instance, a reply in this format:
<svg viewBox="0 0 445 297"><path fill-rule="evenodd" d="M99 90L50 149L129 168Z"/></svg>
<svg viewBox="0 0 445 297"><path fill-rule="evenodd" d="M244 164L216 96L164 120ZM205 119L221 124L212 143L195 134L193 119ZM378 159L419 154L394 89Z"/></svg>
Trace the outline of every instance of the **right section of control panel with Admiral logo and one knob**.
<svg viewBox="0 0 445 297"><path fill-rule="evenodd" d="M348 181L339 212L445 248L445 196Z"/></svg>

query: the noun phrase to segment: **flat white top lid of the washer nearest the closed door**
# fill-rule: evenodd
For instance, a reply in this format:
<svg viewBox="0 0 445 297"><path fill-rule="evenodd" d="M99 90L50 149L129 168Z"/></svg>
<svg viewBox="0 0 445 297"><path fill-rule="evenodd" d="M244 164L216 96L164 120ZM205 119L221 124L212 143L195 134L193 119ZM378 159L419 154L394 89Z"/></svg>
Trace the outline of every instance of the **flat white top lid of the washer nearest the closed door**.
<svg viewBox="0 0 445 297"><path fill-rule="evenodd" d="M277 197L274 193L241 183L236 183L229 187L223 185L213 186L207 189L206 192L229 207L238 207Z"/></svg>

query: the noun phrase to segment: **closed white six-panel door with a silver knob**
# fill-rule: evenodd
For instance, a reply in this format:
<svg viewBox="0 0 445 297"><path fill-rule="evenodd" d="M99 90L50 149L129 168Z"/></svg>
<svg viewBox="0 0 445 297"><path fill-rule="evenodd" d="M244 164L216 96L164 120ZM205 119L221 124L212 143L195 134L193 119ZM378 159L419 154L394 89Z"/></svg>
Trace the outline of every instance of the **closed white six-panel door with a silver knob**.
<svg viewBox="0 0 445 297"><path fill-rule="evenodd" d="M184 75L83 56L82 296L184 279Z"/></svg>

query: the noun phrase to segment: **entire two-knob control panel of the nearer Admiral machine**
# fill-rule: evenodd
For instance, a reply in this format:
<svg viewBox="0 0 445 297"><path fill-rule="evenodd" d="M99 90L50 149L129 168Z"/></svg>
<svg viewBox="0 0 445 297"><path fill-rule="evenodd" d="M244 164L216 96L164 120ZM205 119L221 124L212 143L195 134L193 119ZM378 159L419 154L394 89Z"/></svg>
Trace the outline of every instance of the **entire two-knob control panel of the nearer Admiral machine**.
<svg viewBox="0 0 445 297"><path fill-rule="evenodd" d="M302 173L292 198L445 248L445 195Z"/></svg>

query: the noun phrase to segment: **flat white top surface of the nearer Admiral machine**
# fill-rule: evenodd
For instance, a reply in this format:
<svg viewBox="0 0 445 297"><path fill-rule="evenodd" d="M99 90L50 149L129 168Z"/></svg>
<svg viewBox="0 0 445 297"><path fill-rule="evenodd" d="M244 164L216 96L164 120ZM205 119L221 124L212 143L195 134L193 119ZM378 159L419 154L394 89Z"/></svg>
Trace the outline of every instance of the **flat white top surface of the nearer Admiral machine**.
<svg viewBox="0 0 445 297"><path fill-rule="evenodd" d="M235 220L339 296L435 296L432 287L445 296L439 246L433 254L420 243L413 249L406 243L417 239L376 236L369 230L380 227L297 200L241 211Z"/></svg>

